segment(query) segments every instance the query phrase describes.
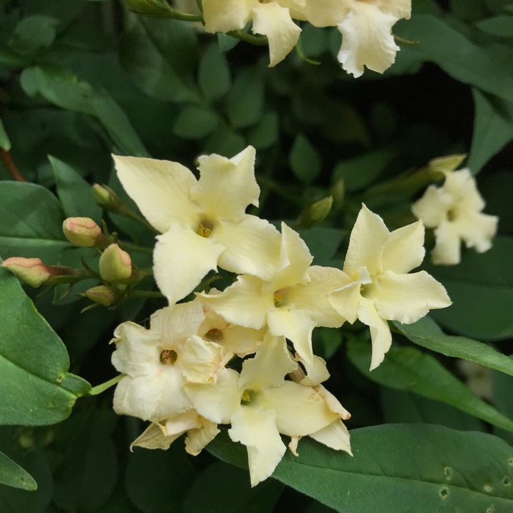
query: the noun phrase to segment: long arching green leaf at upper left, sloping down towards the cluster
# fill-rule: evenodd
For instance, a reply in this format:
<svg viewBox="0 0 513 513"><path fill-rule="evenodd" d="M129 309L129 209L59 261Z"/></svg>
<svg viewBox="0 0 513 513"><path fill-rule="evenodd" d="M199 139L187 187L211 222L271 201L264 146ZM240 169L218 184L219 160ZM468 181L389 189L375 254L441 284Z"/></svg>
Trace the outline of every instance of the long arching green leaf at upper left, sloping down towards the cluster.
<svg viewBox="0 0 513 513"><path fill-rule="evenodd" d="M124 155L148 155L120 106L107 92L95 90L73 73L37 66L27 68L21 74L21 86L29 96L40 94L57 107L98 118L112 142Z"/></svg>

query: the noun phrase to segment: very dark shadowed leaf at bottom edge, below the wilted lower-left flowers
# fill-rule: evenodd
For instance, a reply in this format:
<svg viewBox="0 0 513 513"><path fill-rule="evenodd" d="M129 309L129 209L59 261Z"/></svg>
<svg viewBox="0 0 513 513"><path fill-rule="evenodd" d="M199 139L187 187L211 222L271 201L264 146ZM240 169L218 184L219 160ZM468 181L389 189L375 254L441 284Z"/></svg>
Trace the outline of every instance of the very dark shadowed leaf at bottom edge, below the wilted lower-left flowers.
<svg viewBox="0 0 513 513"><path fill-rule="evenodd" d="M181 440L167 451L135 447L127 468L127 490L144 513L180 511L196 473Z"/></svg>

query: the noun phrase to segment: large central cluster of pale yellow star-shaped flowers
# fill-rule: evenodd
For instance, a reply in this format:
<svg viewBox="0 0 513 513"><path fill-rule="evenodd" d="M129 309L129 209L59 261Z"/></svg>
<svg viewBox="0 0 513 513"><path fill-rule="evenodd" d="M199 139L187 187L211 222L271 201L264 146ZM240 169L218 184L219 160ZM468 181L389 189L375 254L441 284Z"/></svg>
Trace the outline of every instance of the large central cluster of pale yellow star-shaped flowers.
<svg viewBox="0 0 513 513"><path fill-rule="evenodd" d="M206 4L206 2L205 2ZM357 318L371 328L377 367L391 345L387 319L411 323L450 304L425 272L407 274L424 255L423 224L390 233L365 206L344 269L311 265L300 235L246 213L258 205L255 151L199 157L200 178L179 163L115 157L128 194L161 235L154 272L169 306L149 328L118 326L112 356L125 376L114 408L152 422L134 445L169 447L187 434L199 453L219 432L246 445L251 483L269 477L302 436L350 453L350 415L323 386L326 362L312 332ZM224 291L187 298L217 267L236 273Z"/></svg>

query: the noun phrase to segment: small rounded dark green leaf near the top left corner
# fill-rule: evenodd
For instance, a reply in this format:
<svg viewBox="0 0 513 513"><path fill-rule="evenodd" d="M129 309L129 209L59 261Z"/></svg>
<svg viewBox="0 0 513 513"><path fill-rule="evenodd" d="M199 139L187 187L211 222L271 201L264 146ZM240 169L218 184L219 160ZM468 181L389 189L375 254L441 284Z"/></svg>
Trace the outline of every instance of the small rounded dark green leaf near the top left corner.
<svg viewBox="0 0 513 513"><path fill-rule="evenodd" d="M21 53L32 53L51 46L59 21L52 16L28 16L16 25L9 46Z"/></svg>

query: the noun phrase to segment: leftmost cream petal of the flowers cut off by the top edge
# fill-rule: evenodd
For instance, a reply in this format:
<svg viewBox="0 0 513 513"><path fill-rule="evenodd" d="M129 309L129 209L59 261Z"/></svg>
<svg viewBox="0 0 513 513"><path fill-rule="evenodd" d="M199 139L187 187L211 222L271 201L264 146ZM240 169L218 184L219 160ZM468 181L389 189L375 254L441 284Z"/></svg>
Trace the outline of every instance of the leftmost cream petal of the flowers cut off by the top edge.
<svg viewBox="0 0 513 513"><path fill-rule="evenodd" d="M258 0L203 0L205 30L214 34L244 29L257 2Z"/></svg>

